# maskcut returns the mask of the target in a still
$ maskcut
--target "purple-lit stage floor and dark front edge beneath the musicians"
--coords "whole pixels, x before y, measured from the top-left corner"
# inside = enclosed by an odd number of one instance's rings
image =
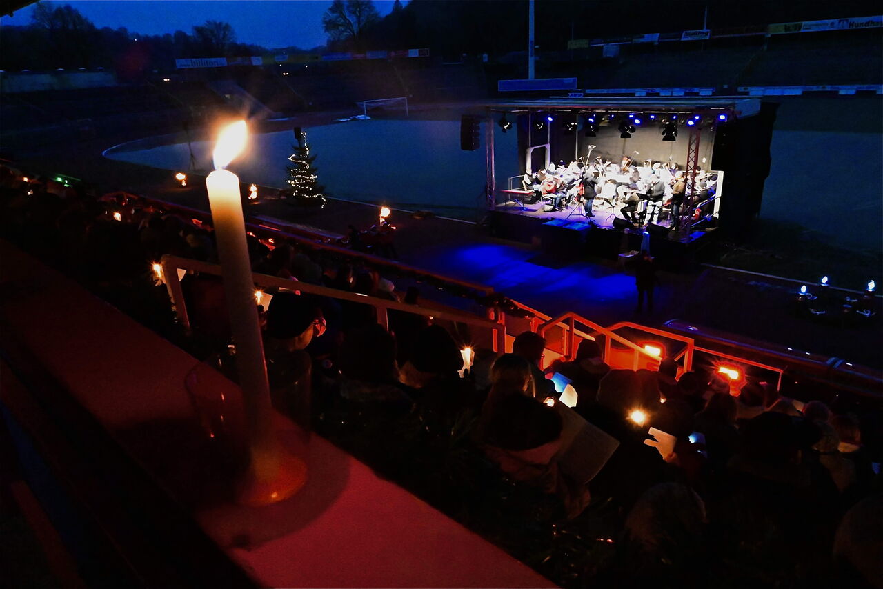
[[[673,270],[704,261],[717,241],[716,230],[672,231],[665,217],[649,227],[621,229],[614,219],[623,221],[622,205],[611,209],[607,203],[596,204],[588,218],[579,206],[550,212],[542,207],[542,203],[523,207],[514,201],[498,204],[490,212],[491,234],[539,246],[548,257],[562,262],[617,260],[621,253],[649,249],[662,267]]]

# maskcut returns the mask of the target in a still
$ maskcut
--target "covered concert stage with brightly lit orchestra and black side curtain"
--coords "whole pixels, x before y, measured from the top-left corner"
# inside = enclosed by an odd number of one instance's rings
[[[764,107],[736,96],[487,104],[492,235],[550,258],[622,260],[649,249],[669,268],[699,261],[700,252],[707,261],[719,234],[738,240],[758,214],[774,120]],[[466,123],[461,147],[474,149]],[[495,126],[517,132],[520,170],[497,167]],[[590,194],[586,216],[578,201]]]

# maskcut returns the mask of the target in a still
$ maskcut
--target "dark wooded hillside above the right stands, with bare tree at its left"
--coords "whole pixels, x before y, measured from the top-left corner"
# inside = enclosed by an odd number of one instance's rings
[[[435,55],[488,53],[500,56],[527,49],[527,0],[411,0],[399,2],[380,19],[369,19],[351,34],[336,13],[372,4],[370,0],[335,0],[326,12],[325,30],[336,50],[413,49]],[[567,49],[574,39],[666,33],[709,27],[766,25],[796,20],[861,17],[879,13],[868,0],[536,0],[535,32],[540,50]],[[328,21],[331,22],[331,28]]]

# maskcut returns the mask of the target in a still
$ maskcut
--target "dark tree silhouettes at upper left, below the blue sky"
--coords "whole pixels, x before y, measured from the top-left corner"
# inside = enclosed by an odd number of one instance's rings
[[[34,5],[32,24],[4,26],[0,69],[115,69],[125,75],[169,70],[176,58],[262,55],[267,49],[236,42],[229,23],[207,20],[191,33],[138,34],[125,27],[98,28],[70,5]]]

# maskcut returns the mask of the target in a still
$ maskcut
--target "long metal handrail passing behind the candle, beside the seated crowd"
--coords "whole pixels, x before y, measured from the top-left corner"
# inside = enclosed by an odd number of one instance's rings
[[[172,306],[174,306],[178,321],[189,331],[190,316],[187,313],[187,306],[184,298],[184,291],[181,289],[181,282],[177,277],[177,270],[187,270],[193,272],[201,272],[212,276],[222,276],[220,264],[210,264],[205,261],[189,260],[179,258],[177,256],[166,254],[162,256],[160,261],[162,267],[162,280],[166,284],[169,291]],[[369,295],[362,295],[355,292],[339,291],[337,289],[320,286],[318,284],[302,283],[291,281],[287,278],[278,276],[269,276],[266,274],[253,274],[253,281],[262,287],[281,288],[288,291],[307,292],[322,297],[336,298],[337,300],[350,301],[352,303],[361,303],[363,305],[373,306],[377,313],[377,322],[383,328],[389,328],[389,310],[403,311],[404,313],[413,313],[425,315],[434,319],[442,319],[445,321],[457,321],[474,325],[480,328],[490,329],[493,334],[494,351],[505,351],[506,343],[506,316],[502,311],[495,310],[496,320],[492,321],[484,319],[469,313],[460,313],[454,311],[427,309],[426,307],[409,305],[400,303],[395,300],[386,298],[377,298]]]

